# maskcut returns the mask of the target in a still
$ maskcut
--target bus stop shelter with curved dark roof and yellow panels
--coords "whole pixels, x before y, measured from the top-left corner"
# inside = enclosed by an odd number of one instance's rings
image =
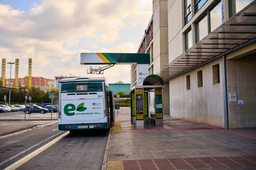
[[[131,90],[131,124],[144,129],[146,124],[163,127],[163,79],[152,74]]]

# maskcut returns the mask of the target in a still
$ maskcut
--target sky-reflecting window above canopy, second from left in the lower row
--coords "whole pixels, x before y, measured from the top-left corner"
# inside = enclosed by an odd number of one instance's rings
[[[196,43],[208,34],[207,15],[196,23]]]

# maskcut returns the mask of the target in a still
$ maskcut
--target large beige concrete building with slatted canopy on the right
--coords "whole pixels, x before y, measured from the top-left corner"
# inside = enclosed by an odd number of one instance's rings
[[[150,53],[148,73],[164,80],[163,113],[256,127],[256,1],[154,0],[148,25],[138,53]]]

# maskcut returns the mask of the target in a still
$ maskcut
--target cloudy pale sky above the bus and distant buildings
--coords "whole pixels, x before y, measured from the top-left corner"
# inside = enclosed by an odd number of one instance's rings
[[[32,76],[105,76],[109,83],[130,83],[130,65],[87,74],[80,53],[136,53],[151,17],[152,0],[0,0],[0,56],[20,59],[19,77],[28,76],[32,58]],[[14,71],[13,65],[12,78]]]

